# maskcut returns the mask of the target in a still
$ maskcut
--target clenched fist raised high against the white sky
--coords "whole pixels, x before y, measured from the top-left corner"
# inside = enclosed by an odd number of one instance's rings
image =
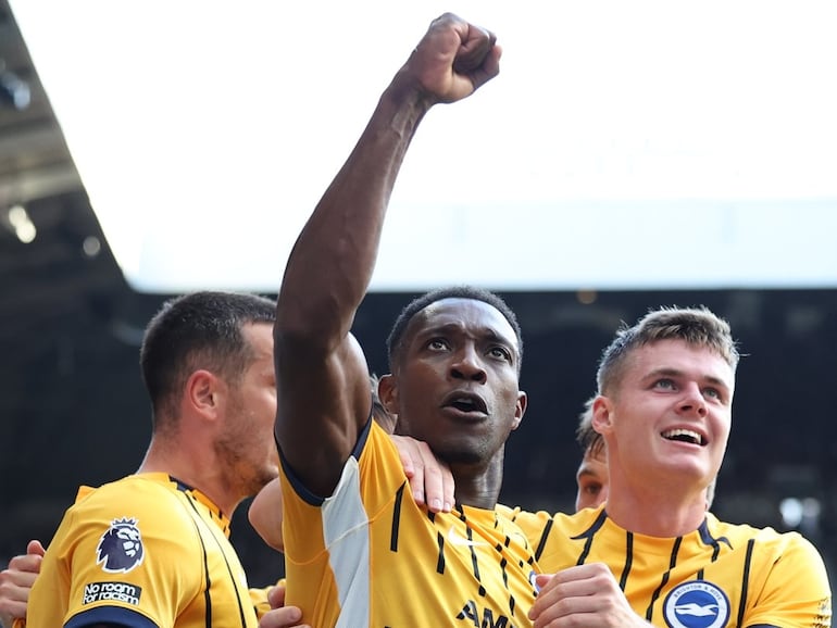
[[[402,74],[434,102],[461,100],[500,73],[496,41],[492,33],[446,13],[433,21]]]

